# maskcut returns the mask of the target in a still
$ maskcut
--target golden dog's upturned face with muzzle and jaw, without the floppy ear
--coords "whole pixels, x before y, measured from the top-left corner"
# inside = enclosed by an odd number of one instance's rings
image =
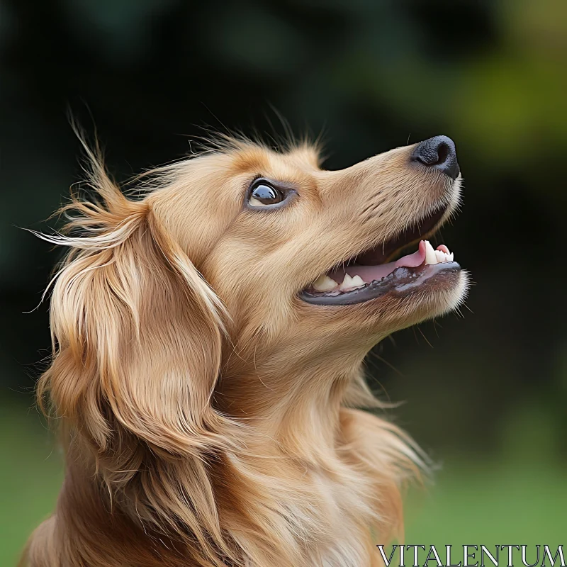
[[[257,371],[359,356],[464,298],[453,254],[425,240],[459,203],[448,137],[340,171],[321,169],[307,146],[242,143],[173,173],[150,206],[228,308],[238,358]]]

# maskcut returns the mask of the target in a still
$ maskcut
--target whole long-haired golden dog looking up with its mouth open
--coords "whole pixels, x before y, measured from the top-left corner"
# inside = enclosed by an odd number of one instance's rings
[[[308,144],[226,139],[135,197],[86,152],[94,198],[43,235],[69,247],[38,383],[66,471],[22,564],[380,565],[426,463],[367,411],[363,361],[464,301],[427,240],[459,206],[454,142],[325,171]]]

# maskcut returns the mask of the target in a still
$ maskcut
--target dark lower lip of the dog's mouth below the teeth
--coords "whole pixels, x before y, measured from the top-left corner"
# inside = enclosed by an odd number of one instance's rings
[[[425,281],[432,281],[436,276],[444,277],[459,271],[461,271],[461,266],[457,262],[443,262],[442,264],[425,264],[424,262],[417,268],[400,266],[381,281],[373,281],[364,288],[346,291],[337,296],[301,291],[299,297],[306,303],[314,305],[354,305],[381,298],[388,293],[405,295],[421,286]]]

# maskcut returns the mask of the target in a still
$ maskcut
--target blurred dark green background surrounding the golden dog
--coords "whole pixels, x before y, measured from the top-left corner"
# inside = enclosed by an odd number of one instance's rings
[[[329,169],[451,136],[465,201],[443,240],[468,308],[368,365],[439,464],[406,540],[567,544],[566,69],[564,0],[0,0],[0,565],[62,481],[32,394],[59,252],[17,227],[45,228],[79,179],[67,107],[118,179],[203,125],[281,133],[277,113],[323,133]]]

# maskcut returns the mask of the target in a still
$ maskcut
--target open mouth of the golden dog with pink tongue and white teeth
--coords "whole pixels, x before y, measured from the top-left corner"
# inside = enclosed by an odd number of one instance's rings
[[[454,254],[447,246],[434,249],[428,240],[420,240],[441,224],[446,210],[447,207],[438,210],[383,245],[322,274],[300,293],[300,298],[318,305],[352,305],[390,291],[408,291],[446,271],[459,271],[461,266],[454,262]],[[416,241],[419,241],[417,252],[386,262]]]

